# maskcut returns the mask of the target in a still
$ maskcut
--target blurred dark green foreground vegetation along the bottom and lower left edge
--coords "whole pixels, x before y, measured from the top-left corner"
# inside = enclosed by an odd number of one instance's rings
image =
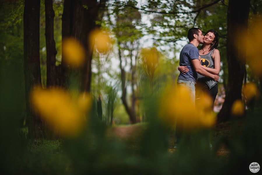
[[[23,101],[17,98],[16,81],[9,81],[19,77],[11,67],[1,67],[6,69],[10,74],[1,74],[5,93],[0,104],[4,174],[240,174],[249,172],[251,162],[261,160],[261,99],[245,111],[244,118],[233,118],[216,129],[190,131],[191,139],[185,135],[177,150],[172,149],[174,130],[158,117],[154,95],[144,105],[148,122],[122,126],[135,128],[124,137],[113,132],[117,127],[98,119],[93,105],[80,135],[28,140],[27,129],[21,129],[19,122]],[[221,146],[227,152],[224,155],[219,153]]]

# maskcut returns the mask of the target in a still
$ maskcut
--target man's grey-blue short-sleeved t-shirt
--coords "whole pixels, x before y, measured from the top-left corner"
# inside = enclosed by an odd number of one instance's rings
[[[196,83],[197,81],[197,73],[191,62],[191,60],[198,59],[198,48],[196,48],[193,44],[188,43],[180,52],[180,66],[186,66],[189,69],[186,74],[180,72],[178,79],[185,81],[193,81]]]

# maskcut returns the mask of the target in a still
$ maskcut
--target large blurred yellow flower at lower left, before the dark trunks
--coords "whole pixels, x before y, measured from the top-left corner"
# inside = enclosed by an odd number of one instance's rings
[[[85,121],[84,111],[91,106],[89,95],[80,97],[80,101],[84,102],[76,103],[67,91],[60,88],[36,87],[30,97],[33,109],[54,131],[64,136],[81,131]]]

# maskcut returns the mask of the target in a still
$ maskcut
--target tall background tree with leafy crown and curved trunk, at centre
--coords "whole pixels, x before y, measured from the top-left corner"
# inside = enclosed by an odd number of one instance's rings
[[[131,4],[129,1],[127,4]],[[141,25],[141,14],[137,9],[131,7],[124,7],[122,9],[115,8],[115,13],[117,15],[116,25],[114,26],[114,31],[118,40],[118,55],[120,60],[120,69],[121,69],[121,83],[122,83],[122,103],[126,109],[126,112],[129,115],[129,120],[131,123],[136,123],[136,95],[135,95],[135,74],[136,74],[136,60],[138,56],[139,49],[139,39],[142,37],[142,31],[136,29],[136,26]],[[123,56],[122,52],[124,50],[129,51],[128,56]],[[136,55],[134,53],[136,52]],[[124,59],[123,59],[124,57]],[[128,58],[129,57],[129,58]],[[134,59],[134,61],[133,61]],[[127,61],[125,64],[123,60],[130,60],[130,71],[125,70]],[[128,74],[130,73],[130,74]],[[126,76],[130,75],[130,76]],[[127,86],[131,87],[131,105],[128,103],[127,99]]]

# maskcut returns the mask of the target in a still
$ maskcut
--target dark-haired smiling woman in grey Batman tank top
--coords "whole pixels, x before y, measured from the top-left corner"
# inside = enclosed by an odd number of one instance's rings
[[[199,49],[199,56],[201,59],[202,67],[210,72],[211,74],[218,75],[220,71],[220,54],[217,50],[219,44],[219,35],[217,31],[210,29],[205,33],[204,42]],[[189,69],[186,66],[179,66],[178,70],[183,74],[186,74]],[[218,92],[218,83],[211,78],[207,78],[198,74],[198,81],[196,85],[196,99],[201,98],[201,93],[208,93],[213,100],[212,107],[214,106],[214,101]]]

